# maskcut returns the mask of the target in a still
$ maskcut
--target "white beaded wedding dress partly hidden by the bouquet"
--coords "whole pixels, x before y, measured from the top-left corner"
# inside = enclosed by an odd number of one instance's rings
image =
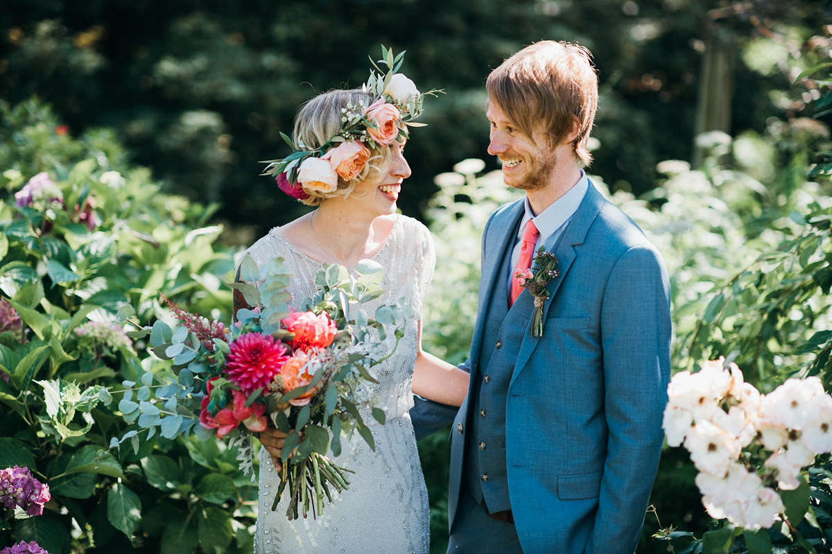
[[[314,275],[321,265],[276,235],[275,230],[248,252],[258,265],[275,256],[285,260],[286,269],[294,275],[289,285],[293,308],[300,309],[300,302],[314,294]],[[433,242],[424,225],[399,215],[373,260],[384,268],[382,286],[387,293],[364,304],[368,312],[373,313],[382,303],[404,298],[419,313],[435,262]],[[393,337],[388,337],[385,344],[389,352]],[[417,322],[411,320],[394,355],[371,369],[379,380],[375,385],[379,408],[387,415],[382,425],[369,414],[369,409],[362,413],[364,423],[373,433],[375,450],[358,433],[342,438],[343,451],[335,463],[355,473],[348,473],[349,489],[333,491],[332,502],[324,499],[323,514],[313,518],[310,512],[306,519],[301,516],[290,521],[286,517],[287,493],[272,512],[280,477],[270,456],[260,449],[255,554],[428,552],[428,492],[408,413],[413,405],[410,385],[416,349]]]

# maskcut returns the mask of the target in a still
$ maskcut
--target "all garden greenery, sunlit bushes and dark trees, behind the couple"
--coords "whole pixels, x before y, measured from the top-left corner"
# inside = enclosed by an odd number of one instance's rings
[[[436,239],[428,350],[453,362],[467,355],[479,236],[493,209],[516,197],[493,161],[457,165],[484,156],[483,79],[522,45],[553,37],[596,55],[592,179],[665,257],[674,369],[725,355],[761,392],[805,374],[829,390],[832,97],[828,67],[817,69],[830,61],[830,32],[820,27],[829,10],[705,0],[6,2],[0,295],[15,303],[28,342],[0,334],[0,369],[10,374],[0,382],[0,465],[31,467],[55,500],[41,517],[0,525],[3,544],[38,540],[52,554],[250,552],[256,490],[233,453],[183,436],[109,448],[131,429],[119,409],[123,381],[138,398],[166,364],[141,342],[91,351],[75,329],[111,322],[123,304],[146,324],[170,320],[159,291],[230,320],[224,283],[238,245],[303,210],[273,194],[257,161],[280,153],[278,131],[314,91],[362,82],[379,43],[408,50],[404,70],[420,87],[447,91],[428,99],[401,201]],[[695,142],[700,52],[712,32],[732,41],[733,117],[727,132]],[[14,193],[40,171],[62,189],[66,210],[14,207]],[[89,197],[93,231],[74,212]],[[35,382],[57,379],[69,387],[61,413],[75,410],[63,420],[74,437],[62,437]],[[71,384],[99,401],[71,405]],[[447,541],[446,439],[420,444],[433,552]],[[816,482],[828,476],[825,462]],[[695,473],[683,450],[663,453],[639,552],[666,552],[650,538],[662,526],[698,538],[714,526]],[[811,502],[830,528],[829,502]],[[820,550],[828,545],[801,525]],[[690,541],[679,536],[677,552]]]

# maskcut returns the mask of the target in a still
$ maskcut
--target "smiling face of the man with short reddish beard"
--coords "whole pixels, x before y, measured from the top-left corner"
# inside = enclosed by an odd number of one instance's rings
[[[503,181],[520,190],[544,188],[557,166],[557,152],[549,146],[542,131],[527,136],[508,119],[493,100],[488,101],[486,116],[491,125],[488,153],[503,162]]]

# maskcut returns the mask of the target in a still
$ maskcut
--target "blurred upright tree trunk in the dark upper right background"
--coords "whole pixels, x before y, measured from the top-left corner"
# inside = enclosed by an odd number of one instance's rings
[[[731,100],[734,95],[733,37],[718,23],[711,22],[706,32],[705,56],[702,59],[699,80],[699,101],[696,106],[694,167],[699,167],[702,161],[702,149],[696,145],[696,136],[706,131],[724,131],[730,134]]]

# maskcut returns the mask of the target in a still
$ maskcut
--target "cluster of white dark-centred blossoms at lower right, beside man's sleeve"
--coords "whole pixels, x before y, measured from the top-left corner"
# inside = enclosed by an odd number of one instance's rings
[[[748,552],[772,552],[775,526],[815,552],[796,527],[815,521],[806,468],[832,452],[832,396],[820,378],[790,378],[761,394],[721,357],[676,373],[667,393],[667,444],[691,454],[706,512],[728,522],[716,537],[706,533],[702,552],[729,552],[740,532]]]

